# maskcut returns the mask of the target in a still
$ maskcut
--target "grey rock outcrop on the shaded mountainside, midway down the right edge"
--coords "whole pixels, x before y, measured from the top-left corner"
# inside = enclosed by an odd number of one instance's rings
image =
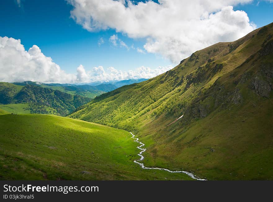
[[[255,76],[251,82],[250,82],[251,89],[254,90],[254,92],[257,95],[260,95],[262,97],[269,98],[269,94],[271,91],[271,87],[267,81],[264,81],[259,76]]]

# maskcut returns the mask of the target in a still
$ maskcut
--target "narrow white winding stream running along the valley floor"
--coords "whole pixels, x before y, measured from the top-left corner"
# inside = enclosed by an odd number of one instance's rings
[[[182,115],[182,116],[183,116],[183,115]],[[141,150],[141,152],[137,154],[138,156],[140,156],[140,159],[135,160],[134,162],[137,163],[138,165],[140,165],[141,168],[143,168],[143,169],[154,169],[154,170],[165,170],[165,171],[168,171],[168,172],[170,172],[170,173],[185,173],[185,174],[189,175],[189,176],[190,176],[191,178],[193,178],[193,179],[196,179],[196,180],[206,180],[206,179],[200,179],[200,178],[198,178],[197,176],[195,176],[194,174],[189,173],[189,172],[187,172],[187,171],[172,171],[172,170],[169,170],[169,169],[166,169],[166,168],[151,168],[151,167],[145,167],[143,163],[138,162],[138,161],[142,161],[142,160],[144,159],[144,156],[142,155],[142,153],[146,151],[146,148],[141,148],[141,147],[144,146],[145,144],[143,144],[142,142],[138,141],[139,139],[136,138],[135,135],[132,134],[132,132],[130,132],[130,133],[131,133],[131,135],[132,135],[132,138],[133,138],[133,139],[136,139],[136,140],[134,140],[134,142],[137,142],[137,143],[140,144],[140,146],[137,147],[137,148],[139,148],[139,149]]]

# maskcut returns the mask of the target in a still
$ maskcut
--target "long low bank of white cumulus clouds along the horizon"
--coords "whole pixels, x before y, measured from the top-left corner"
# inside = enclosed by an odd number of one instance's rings
[[[0,81],[38,81],[42,83],[90,83],[95,81],[127,80],[151,78],[172,69],[171,66],[139,67],[131,71],[118,71],[114,67],[104,70],[102,66],[87,71],[83,65],[76,74],[67,74],[59,65],[45,56],[37,45],[28,51],[20,39],[0,37]]]

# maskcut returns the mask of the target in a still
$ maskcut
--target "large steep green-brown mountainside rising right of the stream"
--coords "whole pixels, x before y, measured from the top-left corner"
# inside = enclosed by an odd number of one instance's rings
[[[217,180],[273,180],[273,23],[69,115],[133,131],[145,166]],[[183,115],[183,117],[181,117]]]

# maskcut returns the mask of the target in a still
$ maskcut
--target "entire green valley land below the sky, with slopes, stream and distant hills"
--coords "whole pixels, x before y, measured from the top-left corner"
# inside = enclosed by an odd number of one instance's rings
[[[273,23],[127,82],[1,82],[0,178],[273,180]]]

